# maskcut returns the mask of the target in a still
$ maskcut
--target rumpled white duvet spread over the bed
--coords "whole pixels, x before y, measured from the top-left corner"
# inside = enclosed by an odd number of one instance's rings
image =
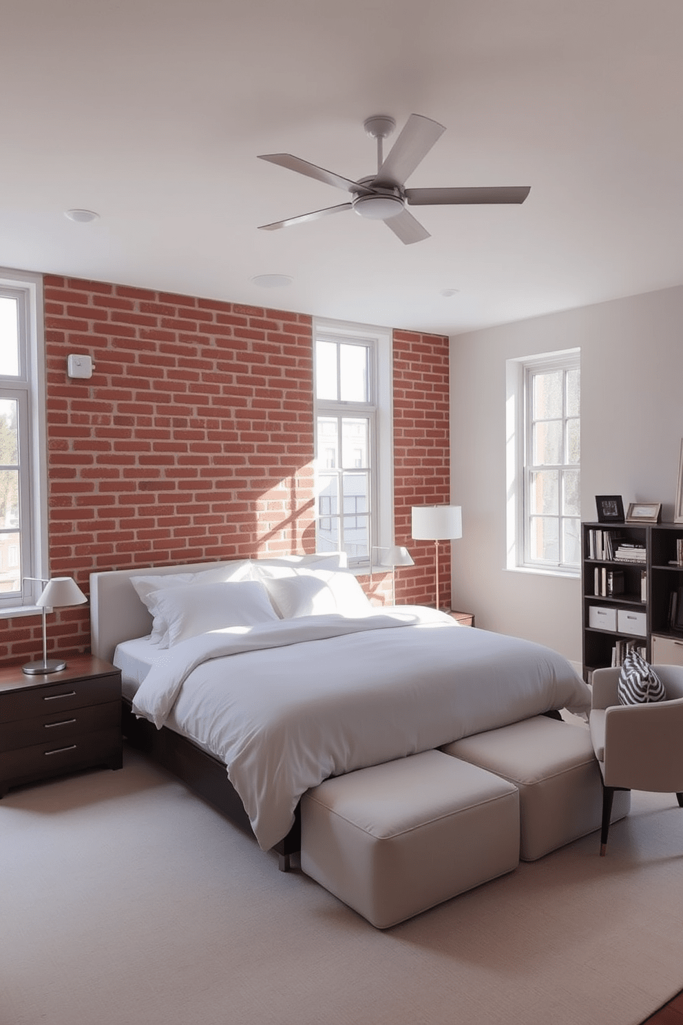
[[[215,630],[171,648],[133,701],[220,757],[259,845],[328,776],[439,747],[590,692],[556,652],[420,607]]]

